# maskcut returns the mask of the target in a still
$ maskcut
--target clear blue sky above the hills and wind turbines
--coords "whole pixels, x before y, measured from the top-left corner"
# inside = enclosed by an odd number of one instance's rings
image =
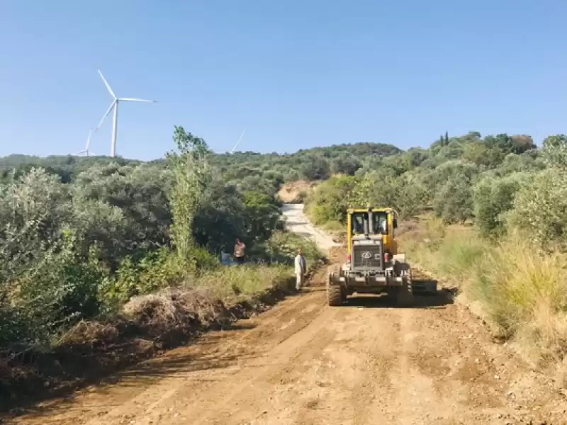
[[[0,155],[217,152],[567,132],[564,0],[0,0]],[[111,116],[91,139],[110,152]]]

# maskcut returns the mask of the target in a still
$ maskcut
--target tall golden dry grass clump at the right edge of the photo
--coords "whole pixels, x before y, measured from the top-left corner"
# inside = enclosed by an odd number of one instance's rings
[[[536,361],[567,353],[567,256],[511,235],[487,256],[475,283],[503,336]]]

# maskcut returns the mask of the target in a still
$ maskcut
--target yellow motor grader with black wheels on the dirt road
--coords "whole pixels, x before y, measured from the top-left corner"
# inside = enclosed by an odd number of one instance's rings
[[[347,261],[329,273],[328,305],[342,305],[354,293],[386,293],[395,304],[413,304],[415,285],[405,254],[398,253],[397,227],[393,208],[347,210]]]

